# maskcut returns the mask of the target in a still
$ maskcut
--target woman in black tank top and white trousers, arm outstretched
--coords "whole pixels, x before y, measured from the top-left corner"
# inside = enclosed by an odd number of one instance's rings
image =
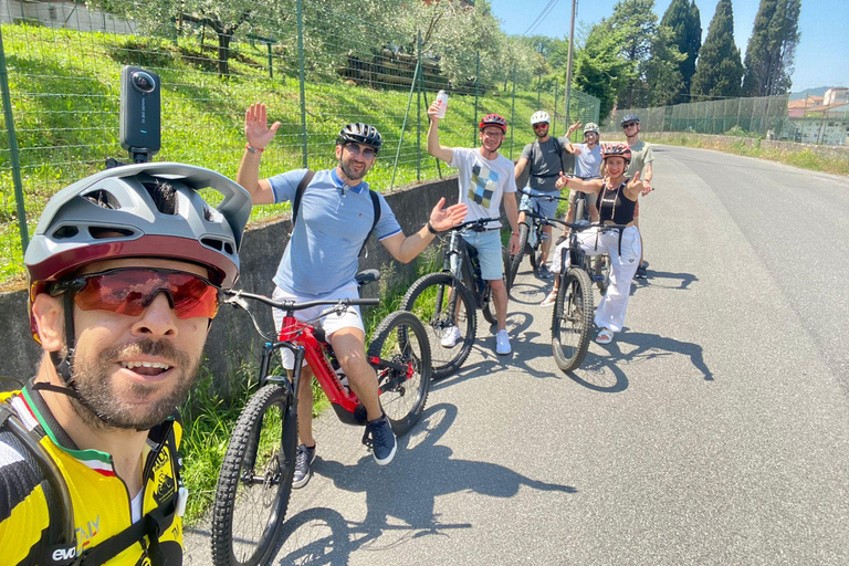
[[[625,144],[602,144],[601,179],[580,180],[560,174],[556,187],[568,187],[579,192],[598,195],[598,212],[601,223],[626,226],[623,230],[600,231],[590,229],[580,232],[578,239],[581,249],[588,255],[607,253],[610,256],[610,286],[596,310],[595,323],[601,328],[596,342],[609,344],[614,333],[620,332],[625,323],[625,312],[631,290],[631,280],[640,259],[639,230],[633,224],[633,210],[637,198],[646,190],[640,174],[633,179],[625,178],[625,170],[631,160],[631,150]],[[557,247],[554,254],[553,270],[559,272],[562,249],[568,247],[568,240]],[[559,277],[554,280],[554,291],[545,297],[542,306],[554,304],[557,297]]]

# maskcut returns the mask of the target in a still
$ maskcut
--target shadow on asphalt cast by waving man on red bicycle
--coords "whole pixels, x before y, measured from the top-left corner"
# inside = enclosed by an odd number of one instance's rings
[[[284,527],[275,564],[342,565],[360,548],[388,548],[421,536],[450,537],[452,530],[472,528],[471,523],[440,521],[434,501],[449,493],[512,497],[522,486],[576,493],[570,485],[533,480],[502,465],[451,458],[453,451],[436,442],[455,418],[453,405],[426,410],[413,431],[398,439],[398,455],[387,468],[376,467],[370,455],[353,465],[316,459],[315,473],[332,480],[336,489],[366,493],[367,515],[354,522],[326,507],[293,515]]]

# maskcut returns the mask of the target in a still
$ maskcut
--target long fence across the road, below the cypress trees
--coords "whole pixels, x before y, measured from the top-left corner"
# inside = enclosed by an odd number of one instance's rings
[[[761,136],[806,144],[846,145],[849,140],[847,105],[790,107],[789,96],[759,96],[695,102],[654,108],[614,112],[602,126],[618,132],[627,114],[640,117],[641,132],[692,132]]]

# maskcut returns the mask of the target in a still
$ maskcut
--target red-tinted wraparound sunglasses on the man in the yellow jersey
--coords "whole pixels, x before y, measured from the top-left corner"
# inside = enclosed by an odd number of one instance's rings
[[[118,268],[56,283],[51,295],[74,293],[83,311],[111,311],[138,316],[164,292],[177,318],[214,318],[220,290],[206,279],[154,268]]]

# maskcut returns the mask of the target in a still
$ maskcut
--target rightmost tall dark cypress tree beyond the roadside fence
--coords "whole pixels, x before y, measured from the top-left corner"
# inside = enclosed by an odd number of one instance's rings
[[[746,48],[745,94],[769,96],[789,91],[800,8],[800,0],[761,0]]]

